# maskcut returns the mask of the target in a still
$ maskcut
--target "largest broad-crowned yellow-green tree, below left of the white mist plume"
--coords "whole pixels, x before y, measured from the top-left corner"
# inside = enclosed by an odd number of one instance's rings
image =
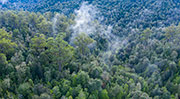
[[[53,44],[50,46],[49,51],[54,56],[53,61],[59,66],[60,72],[64,66],[70,63],[74,55],[74,48],[64,41],[63,38],[62,35],[58,35],[55,40],[49,40],[49,44]]]

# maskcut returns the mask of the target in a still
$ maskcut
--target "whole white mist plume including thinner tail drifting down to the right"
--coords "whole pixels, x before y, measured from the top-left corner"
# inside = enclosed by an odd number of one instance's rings
[[[108,41],[107,51],[101,53],[102,59],[106,63],[111,55],[115,55],[116,52],[128,42],[127,39],[124,40],[112,34],[113,26],[100,24],[103,23],[103,17],[99,15],[98,9],[93,5],[84,2],[79,10],[75,10],[75,15],[75,24],[71,26],[73,34],[70,43],[73,44],[75,38],[81,33],[85,33],[89,36],[98,33]],[[88,46],[95,46],[95,44]]]

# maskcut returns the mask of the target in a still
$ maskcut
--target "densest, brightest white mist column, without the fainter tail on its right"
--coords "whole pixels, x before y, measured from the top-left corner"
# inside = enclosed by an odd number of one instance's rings
[[[94,24],[97,17],[96,7],[88,5],[87,2],[84,2],[79,10],[75,10],[75,15],[75,24],[71,26],[71,29],[73,30],[71,43],[73,43],[75,37],[81,33],[91,35],[96,31],[96,26]]]

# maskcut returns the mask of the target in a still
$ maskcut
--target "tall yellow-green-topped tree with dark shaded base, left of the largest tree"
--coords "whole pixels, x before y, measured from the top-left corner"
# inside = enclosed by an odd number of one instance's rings
[[[30,50],[26,58],[26,61],[29,62],[28,65],[31,67],[31,74],[34,78],[44,77],[43,64],[46,64],[46,62],[43,63],[44,60],[42,60],[43,58],[41,55],[47,50],[46,46],[47,46],[47,41],[44,34],[37,33],[31,39]]]

